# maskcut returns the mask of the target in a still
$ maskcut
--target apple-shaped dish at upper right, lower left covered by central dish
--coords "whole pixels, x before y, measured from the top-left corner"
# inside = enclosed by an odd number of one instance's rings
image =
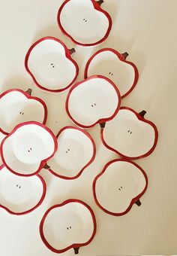
[[[128,53],[118,53],[112,48],[98,50],[86,64],[85,78],[104,75],[118,87],[121,98],[127,96],[138,81],[136,66],[126,60]]]

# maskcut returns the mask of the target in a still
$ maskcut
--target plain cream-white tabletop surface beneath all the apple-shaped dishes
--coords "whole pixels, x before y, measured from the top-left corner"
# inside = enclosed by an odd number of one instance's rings
[[[74,44],[58,29],[56,14],[62,0],[0,1],[0,90],[34,88],[33,95],[46,100],[47,124],[57,133],[71,123],[65,114],[65,96],[44,93],[34,86],[24,68],[28,47],[37,39],[53,35],[67,46]],[[41,174],[46,180],[46,199],[29,215],[12,216],[0,209],[0,255],[52,256],[40,240],[38,226],[43,213],[54,203],[68,198],[84,200],[92,206],[98,221],[93,242],[80,248],[80,255],[176,254],[177,253],[177,169],[176,154],[176,69],[177,1],[176,0],[105,0],[103,8],[113,18],[113,30],[98,47],[75,47],[73,55],[83,68],[86,60],[101,47],[127,51],[128,60],[139,69],[139,82],[130,96],[122,100],[136,111],[145,109],[146,118],[154,121],[159,141],[151,156],[136,160],[145,169],[149,186],[142,206],[133,206],[122,217],[107,215],[98,209],[92,197],[92,181],[108,160],[116,155],[101,145],[99,126],[90,130],[97,144],[95,162],[76,181]],[[57,121],[57,123],[55,123]],[[74,255],[67,251],[63,255]]]

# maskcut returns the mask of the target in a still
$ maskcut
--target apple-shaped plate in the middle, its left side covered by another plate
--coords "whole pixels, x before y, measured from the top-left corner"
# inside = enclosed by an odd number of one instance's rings
[[[95,159],[96,146],[89,133],[65,126],[56,136],[58,150],[48,162],[49,171],[59,178],[78,178]]]

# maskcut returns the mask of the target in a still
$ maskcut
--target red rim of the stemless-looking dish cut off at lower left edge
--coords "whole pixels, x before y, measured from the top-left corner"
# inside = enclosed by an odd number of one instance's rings
[[[5,167],[5,165],[0,166],[0,171],[1,171],[1,169],[3,169],[4,167]],[[0,172],[0,174],[1,174],[1,172]],[[12,211],[10,211],[10,209],[8,209],[8,208],[5,207],[5,206],[2,206],[1,204],[0,204],[0,208],[5,209],[5,210],[6,210],[7,212],[9,212],[11,215],[26,215],[26,214],[28,214],[28,213],[34,211],[35,209],[37,209],[37,207],[39,207],[39,206],[41,205],[41,203],[43,203],[43,200],[44,200],[44,198],[45,198],[45,196],[46,196],[46,182],[44,181],[44,179],[43,179],[40,175],[37,174],[37,177],[40,178],[40,181],[41,181],[41,183],[42,183],[42,185],[43,185],[43,194],[42,194],[42,196],[40,197],[40,200],[39,200],[39,202],[37,203],[36,206],[32,207],[31,209],[27,210],[26,212],[12,212]]]

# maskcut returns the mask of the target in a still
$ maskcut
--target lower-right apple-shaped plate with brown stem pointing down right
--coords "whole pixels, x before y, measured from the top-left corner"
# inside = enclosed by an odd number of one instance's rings
[[[140,166],[130,160],[115,159],[96,176],[93,194],[104,212],[121,216],[129,212],[134,203],[141,205],[139,198],[147,186],[147,175]]]

